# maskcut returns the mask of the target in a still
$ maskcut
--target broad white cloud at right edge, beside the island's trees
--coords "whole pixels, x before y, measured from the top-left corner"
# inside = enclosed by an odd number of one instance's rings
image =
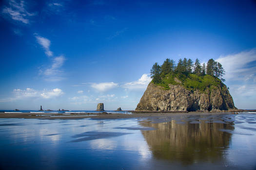
[[[256,49],[220,56],[216,61],[221,63],[225,69],[227,81],[256,80]],[[252,62],[255,63],[252,64]]]

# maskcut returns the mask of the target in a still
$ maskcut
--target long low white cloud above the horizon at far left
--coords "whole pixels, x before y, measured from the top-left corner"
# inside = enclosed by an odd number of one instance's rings
[[[22,89],[14,89],[12,92],[12,97],[0,99],[0,102],[12,102],[17,100],[23,100],[26,98],[43,98],[43,99],[51,99],[54,97],[59,97],[63,95],[63,91],[59,88],[55,89],[43,89],[43,90],[35,90],[33,88]]]

